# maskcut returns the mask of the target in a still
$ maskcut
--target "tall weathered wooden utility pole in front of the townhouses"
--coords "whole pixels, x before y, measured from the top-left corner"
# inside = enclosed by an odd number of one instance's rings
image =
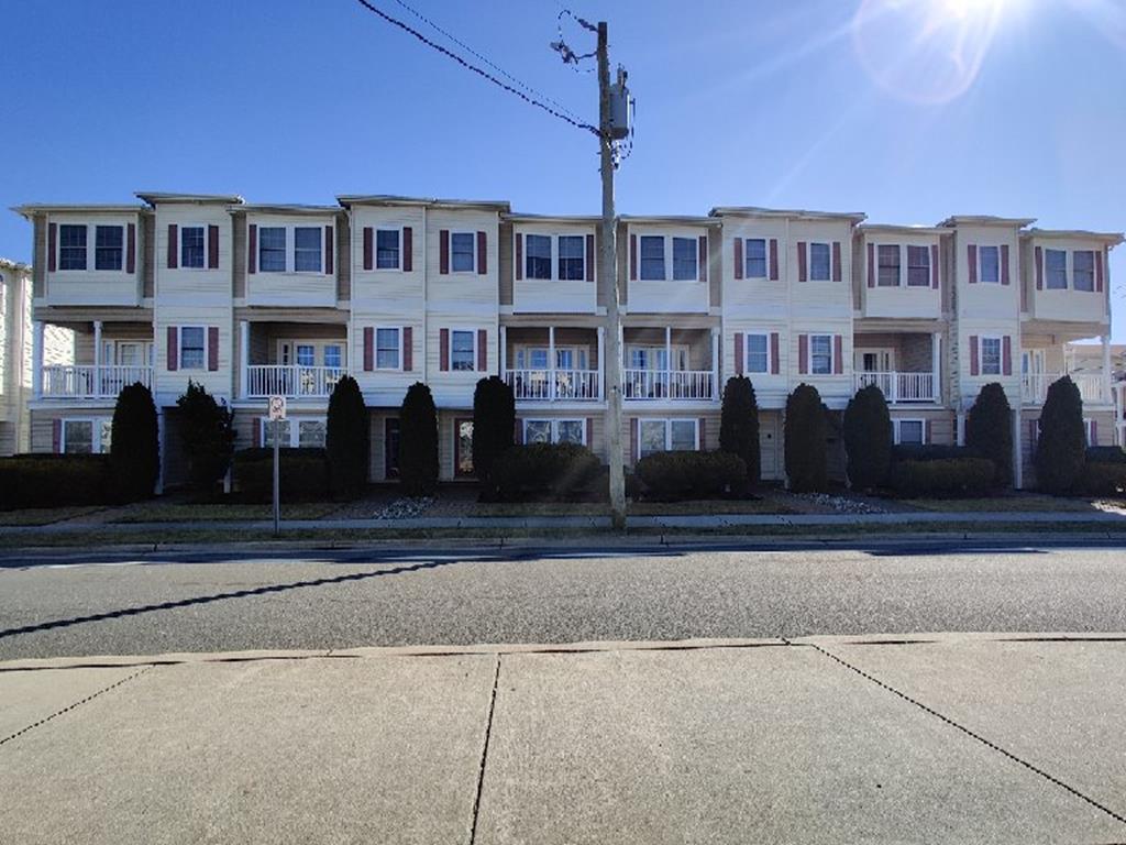
[[[614,527],[626,527],[625,454],[622,451],[622,318],[618,314],[617,222],[614,214],[615,140],[610,116],[610,56],[606,21],[598,24],[598,143],[602,175],[602,243],[598,275],[607,285],[606,319],[606,446],[610,464],[610,518]]]

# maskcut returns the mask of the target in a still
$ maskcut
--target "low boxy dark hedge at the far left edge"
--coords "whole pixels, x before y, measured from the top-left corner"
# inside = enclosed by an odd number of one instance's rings
[[[16,455],[0,460],[0,509],[108,505],[108,455]]]

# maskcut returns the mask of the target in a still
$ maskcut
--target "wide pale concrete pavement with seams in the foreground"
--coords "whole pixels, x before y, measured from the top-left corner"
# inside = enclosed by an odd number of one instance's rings
[[[1126,635],[0,664],[20,843],[1126,842]]]

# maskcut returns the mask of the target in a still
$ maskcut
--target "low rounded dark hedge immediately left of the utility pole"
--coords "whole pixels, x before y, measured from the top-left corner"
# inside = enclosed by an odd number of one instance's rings
[[[492,480],[501,501],[573,499],[589,495],[601,466],[593,452],[577,443],[533,443],[498,455]]]

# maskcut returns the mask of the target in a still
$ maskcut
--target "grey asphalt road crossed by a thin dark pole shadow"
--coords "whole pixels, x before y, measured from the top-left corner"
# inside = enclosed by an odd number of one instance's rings
[[[0,559],[0,659],[939,631],[1126,631],[1126,551]]]

